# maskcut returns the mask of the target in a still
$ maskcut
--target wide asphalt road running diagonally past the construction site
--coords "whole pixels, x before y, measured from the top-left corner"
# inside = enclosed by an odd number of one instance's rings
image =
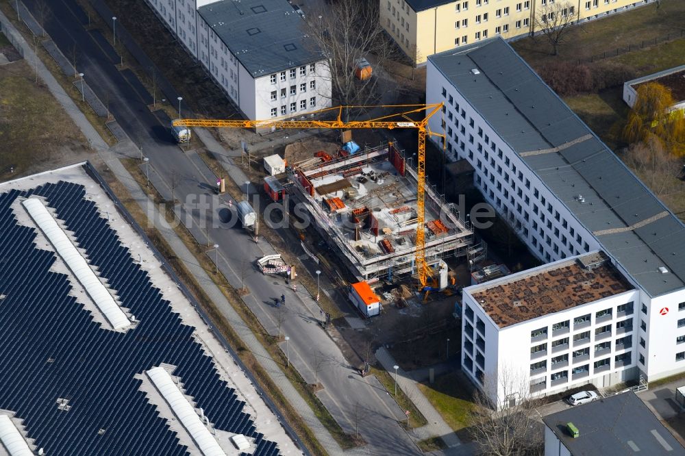
[[[36,1],[26,0],[27,7],[36,12]],[[316,371],[324,389],[319,392],[321,401],[348,432],[358,428],[369,443],[364,453],[377,455],[414,455],[419,453],[405,431],[397,425],[403,413],[379,386],[374,377],[362,379],[356,370],[347,366],[338,346],[319,327],[319,307],[304,295],[295,293],[282,279],[264,276],[252,265],[255,259],[270,247],[260,240],[253,242],[240,224],[230,227],[236,214],[233,209],[214,199],[214,175],[199,157],[186,155],[171,140],[169,127],[160,123],[149,112],[149,95],[140,92],[136,81],[125,77],[112,62],[112,50],[102,40],[96,40],[84,29],[84,15],[73,0],[53,0],[45,28],[65,55],[76,45],[79,53],[77,69],[92,90],[105,103],[126,134],[149,157],[153,174],[158,176],[162,193],[169,192],[172,175],[175,175],[175,197],[190,218],[190,228],[208,233],[209,244],[218,243],[219,264],[230,282],[242,282],[251,294],[245,301],[262,320],[267,330],[274,332],[279,320],[279,309],[272,305],[273,298],[286,295],[286,318],[282,332],[290,336],[290,361],[310,383]],[[107,33],[107,32],[105,32]],[[164,188],[166,186],[166,188]],[[205,204],[205,202],[207,202]],[[210,253],[210,257],[214,257]],[[269,328],[269,325],[272,325]],[[319,368],[316,368],[319,364]]]

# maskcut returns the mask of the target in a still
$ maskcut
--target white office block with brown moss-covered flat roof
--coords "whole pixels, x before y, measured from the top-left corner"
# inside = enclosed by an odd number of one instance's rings
[[[522,385],[527,396],[632,379],[637,302],[601,251],[465,288],[462,371],[493,399],[496,386],[502,404]],[[486,372],[498,372],[497,385]]]

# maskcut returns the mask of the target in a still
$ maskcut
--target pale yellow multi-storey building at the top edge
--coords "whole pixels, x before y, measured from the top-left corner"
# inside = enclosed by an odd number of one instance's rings
[[[418,64],[429,55],[501,36],[536,33],[534,18],[554,0],[379,0],[380,22]],[[656,0],[556,0],[575,21],[591,21]],[[536,12],[537,11],[537,12]]]

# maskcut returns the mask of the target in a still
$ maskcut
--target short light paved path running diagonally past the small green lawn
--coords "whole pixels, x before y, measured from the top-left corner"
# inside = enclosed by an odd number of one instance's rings
[[[390,355],[390,352],[388,352],[385,347],[381,347],[376,351],[376,359],[378,359],[385,370],[393,372],[395,358],[393,358],[393,355]],[[414,379],[412,379],[403,369],[397,370],[397,386],[399,386],[404,394],[412,398],[412,402],[416,405],[416,408],[421,411],[421,414],[428,421],[428,425],[421,428],[422,433],[428,431],[429,435],[440,437],[448,448],[453,448],[462,444],[456,433],[452,431],[451,427],[447,425],[435,407],[433,407],[426,396],[419,390],[419,387],[416,386]]]

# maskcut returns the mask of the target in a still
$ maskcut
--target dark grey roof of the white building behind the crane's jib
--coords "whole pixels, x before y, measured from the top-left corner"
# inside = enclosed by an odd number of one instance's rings
[[[321,60],[286,0],[222,0],[197,12],[253,77]]]

